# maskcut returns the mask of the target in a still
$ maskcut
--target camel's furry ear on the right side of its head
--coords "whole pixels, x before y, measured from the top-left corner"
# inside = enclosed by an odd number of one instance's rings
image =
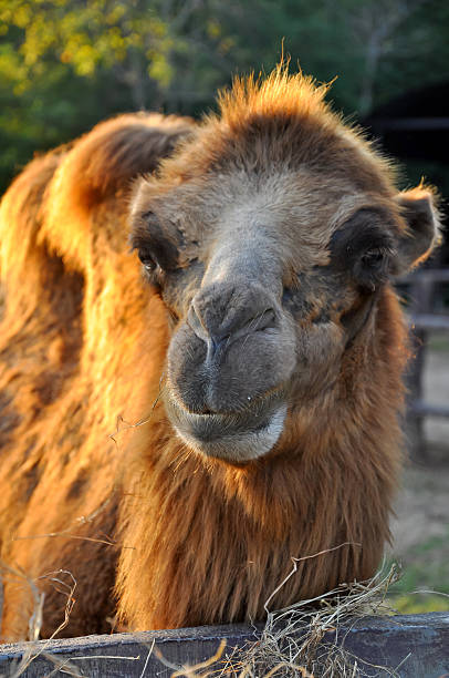
[[[440,243],[440,224],[430,191],[413,188],[399,193],[397,202],[407,223],[407,229],[399,236],[395,267],[395,273],[401,275],[427,259]]]

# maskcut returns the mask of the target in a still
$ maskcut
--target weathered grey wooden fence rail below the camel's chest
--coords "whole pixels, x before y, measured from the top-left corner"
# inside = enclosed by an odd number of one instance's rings
[[[400,678],[449,677],[449,613],[366,617],[340,629],[338,637],[344,648],[377,667],[396,669],[404,662],[397,672]],[[4,645],[0,675],[14,676],[18,662],[32,650],[34,658],[21,674],[24,678],[43,678],[52,671],[54,676],[66,676],[71,667],[90,678],[165,678],[173,671],[159,662],[154,651],[148,658],[153,646],[174,665],[194,665],[212,657],[222,638],[227,640],[227,655],[234,647],[255,641],[258,630],[244,625],[208,626]],[[366,665],[364,670],[369,672]],[[372,675],[389,674],[373,668]]]

